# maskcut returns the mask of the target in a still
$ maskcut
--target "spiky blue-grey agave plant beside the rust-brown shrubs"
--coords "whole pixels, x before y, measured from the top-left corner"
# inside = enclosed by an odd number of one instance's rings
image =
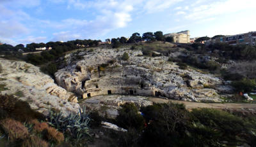
[[[86,108],[82,110],[79,108],[79,112],[76,114],[70,113],[67,117],[62,116],[62,113],[56,113],[49,111],[47,116],[49,125],[56,127],[61,132],[69,132],[74,139],[81,139],[86,136],[90,136],[88,123],[90,118],[86,113]]]

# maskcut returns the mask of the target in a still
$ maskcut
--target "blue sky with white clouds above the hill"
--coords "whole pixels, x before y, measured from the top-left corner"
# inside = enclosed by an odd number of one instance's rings
[[[178,32],[256,31],[255,0],[0,0],[0,41],[47,43]]]

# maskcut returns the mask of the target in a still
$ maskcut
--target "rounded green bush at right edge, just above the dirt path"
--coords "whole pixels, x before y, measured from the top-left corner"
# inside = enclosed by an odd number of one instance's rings
[[[243,78],[239,81],[233,81],[232,86],[236,88],[237,92],[251,92],[256,88],[256,81],[255,79]]]

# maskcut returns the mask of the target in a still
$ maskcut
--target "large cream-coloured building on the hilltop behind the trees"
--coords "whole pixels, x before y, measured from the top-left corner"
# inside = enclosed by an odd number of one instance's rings
[[[190,43],[190,34],[188,30],[164,35],[164,37],[169,36],[173,37],[173,42],[175,43]]]

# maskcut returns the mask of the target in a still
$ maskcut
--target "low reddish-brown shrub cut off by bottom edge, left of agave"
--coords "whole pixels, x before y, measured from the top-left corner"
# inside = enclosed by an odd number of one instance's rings
[[[48,147],[49,144],[46,141],[40,139],[40,137],[32,136],[26,139],[22,143],[22,147]]]

